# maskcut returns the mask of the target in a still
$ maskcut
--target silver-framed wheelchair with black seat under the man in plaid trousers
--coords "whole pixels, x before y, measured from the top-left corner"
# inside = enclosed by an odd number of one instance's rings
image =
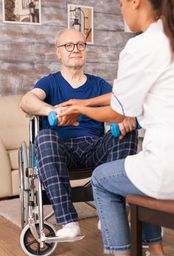
[[[55,227],[48,221],[53,216],[51,211],[44,216],[43,205],[50,202],[42,188],[35,159],[34,139],[39,131],[39,117],[31,116],[29,120],[29,149],[26,142],[22,141],[18,151],[19,158],[19,190],[20,190],[20,211],[21,227],[20,245],[26,255],[51,255],[58,243],[79,241],[84,236],[76,238],[56,237]],[[70,180],[89,178],[93,170],[69,170]],[[72,187],[72,202],[85,202],[95,208],[92,202],[93,194],[91,183],[83,187]]]

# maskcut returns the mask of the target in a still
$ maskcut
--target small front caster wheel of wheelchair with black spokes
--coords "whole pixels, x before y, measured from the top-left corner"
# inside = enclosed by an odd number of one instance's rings
[[[39,223],[37,222],[36,228],[39,233]],[[44,222],[44,232],[46,237],[56,236],[56,230],[50,222]],[[23,252],[26,255],[34,256],[34,255],[42,255],[48,256],[51,255],[56,249],[57,243],[47,243],[45,242],[44,247],[40,248],[39,243],[31,234],[29,224],[24,227],[21,235],[20,235],[20,245],[23,249]]]

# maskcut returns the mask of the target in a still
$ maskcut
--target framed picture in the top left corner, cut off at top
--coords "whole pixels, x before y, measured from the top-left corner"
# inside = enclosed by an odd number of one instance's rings
[[[41,0],[2,0],[3,22],[41,24]]]

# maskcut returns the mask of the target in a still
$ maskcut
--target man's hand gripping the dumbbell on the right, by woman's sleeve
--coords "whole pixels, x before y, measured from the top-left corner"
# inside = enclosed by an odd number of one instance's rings
[[[118,124],[121,135],[120,139],[124,138],[127,132],[131,132],[133,129],[136,129],[136,118],[135,117],[125,117],[122,123]]]

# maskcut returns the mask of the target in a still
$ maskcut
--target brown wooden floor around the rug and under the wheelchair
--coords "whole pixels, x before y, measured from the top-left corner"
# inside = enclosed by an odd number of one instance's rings
[[[80,221],[82,241],[58,244],[52,256],[102,256],[102,238],[97,217]],[[164,229],[165,256],[174,255],[174,230]],[[20,247],[20,228],[0,217],[0,256],[25,256]]]

